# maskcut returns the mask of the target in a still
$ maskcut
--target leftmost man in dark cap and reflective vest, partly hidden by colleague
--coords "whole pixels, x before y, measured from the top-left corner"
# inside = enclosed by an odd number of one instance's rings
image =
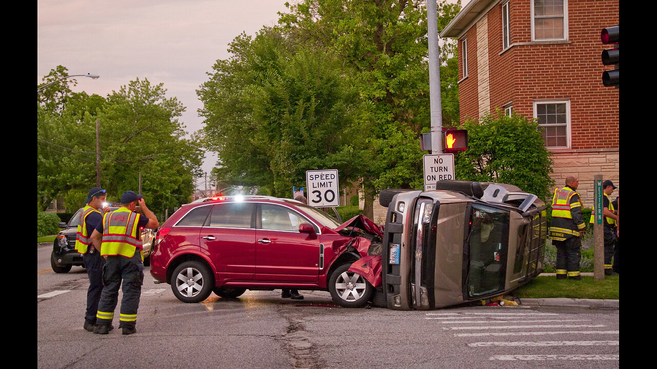
[[[89,276],[87,311],[84,319],[84,329],[89,332],[93,332],[93,328],[96,326],[96,312],[102,293],[102,266],[105,263],[105,259],[91,244],[91,233],[102,221],[100,209],[106,197],[105,190],[100,187],[91,188],[87,192],[87,200],[85,200],[87,205],[79,215],[78,233],[76,234],[76,250],[82,254],[82,261],[84,261],[87,276]],[[104,207],[102,211],[108,212],[110,208]],[[112,328],[110,326],[110,329]]]

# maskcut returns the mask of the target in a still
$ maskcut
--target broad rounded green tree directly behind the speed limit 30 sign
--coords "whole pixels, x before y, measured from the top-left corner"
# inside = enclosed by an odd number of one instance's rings
[[[222,183],[290,196],[306,170],[330,167],[354,178],[346,160],[357,91],[331,53],[294,45],[275,29],[235,37],[229,60],[197,91],[204,102],[206,148],[218,153]]]

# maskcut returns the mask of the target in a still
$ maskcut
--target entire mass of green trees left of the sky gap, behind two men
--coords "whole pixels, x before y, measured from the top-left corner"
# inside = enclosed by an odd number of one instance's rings
[[[45,83],[67,76],[58,66]],[[177,118],[185,107],[166,97],[162,83],[130,81],[106,98],[72,93],[63,79],[37,97],[37,202],[45,210],[64,196],[68,211],[82,207],[96,186],[96,121],[99,121],[101,187],[108,202],[139,190],[156,214],[189,202],[204,150],[198,134],[186,137]],[[161,216],[161,215],[160,215]]]

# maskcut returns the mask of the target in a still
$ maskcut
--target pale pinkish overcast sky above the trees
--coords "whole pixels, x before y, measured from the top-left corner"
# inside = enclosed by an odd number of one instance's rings
[[[139,77],[164,83],[187,111],[188,132],[202,127],[196,89],[241,32],[273,26],[286,0],[39,0],[37,84],[58,65],[76,77],[74,91],[106,97]],[[293,1],[290,1],[293,3]],[[216,158],[206,154],[210,173]]]

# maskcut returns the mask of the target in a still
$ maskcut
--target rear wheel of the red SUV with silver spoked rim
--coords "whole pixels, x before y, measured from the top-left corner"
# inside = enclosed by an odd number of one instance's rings
[[[214,276],[205,263],[185,261],[171,274],[173,295],[183,303],[198,303],[207,299],[214,288]]]

